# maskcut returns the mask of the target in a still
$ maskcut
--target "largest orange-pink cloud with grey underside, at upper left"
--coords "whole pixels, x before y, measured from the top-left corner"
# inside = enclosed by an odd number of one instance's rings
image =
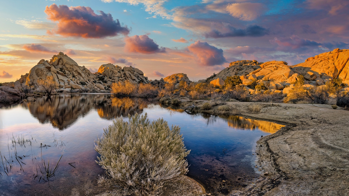
[[[45,13],[49,20],[57,23],[57,28],[48,33],[57,33],[65,37],[101,38],[116,36],[119,33],[128,35],[127,26],[122,27],[119,20],[113,19],[111,14],[98,11],[95,14],[90,7],[66,5],[46,6]]]

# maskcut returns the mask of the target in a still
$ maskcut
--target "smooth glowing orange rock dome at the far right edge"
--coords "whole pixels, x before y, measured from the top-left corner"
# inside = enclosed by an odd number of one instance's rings
[[[322,85],[333,78],[342,78],[349,84],[349,50],[334,49],[292,66],[295,73],[301,74],[309,84]]]

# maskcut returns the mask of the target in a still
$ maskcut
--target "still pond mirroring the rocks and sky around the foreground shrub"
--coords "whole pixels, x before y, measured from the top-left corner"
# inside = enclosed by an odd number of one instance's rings
[[[215,195],[240,189],[258,176],[252,155],[255,142],[282,127],[239,116],[190,115],[149,100],[109,94],[39,98],[0,109],[0,195],[103,192],[96,182],[104,171],[95,163],[94,140],[115,117],[135,112],[181,127],[191,150],[188,176]]]

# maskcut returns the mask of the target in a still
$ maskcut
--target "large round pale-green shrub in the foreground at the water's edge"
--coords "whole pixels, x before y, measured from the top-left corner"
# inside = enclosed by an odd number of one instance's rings
[[[101,155],[96,161],[106,171],[107,178],[98,182],[124,188],[129,195],[159,195],[169,181],[180,180],[188,172],[184,159],[190,152],[183,143],[180,128],[163,119],[149,122],[147,114],[122,117],[104,129],[95,141]]]

